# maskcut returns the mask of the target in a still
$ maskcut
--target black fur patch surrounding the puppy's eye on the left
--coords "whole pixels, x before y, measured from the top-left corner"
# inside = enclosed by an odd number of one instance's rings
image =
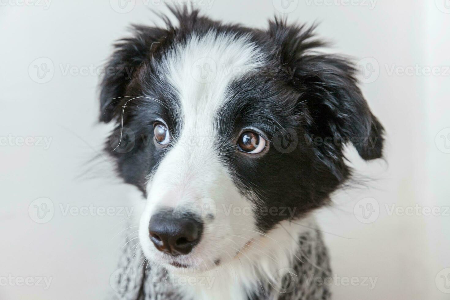
[[[153,123],[157,119],[163,120],[171,140],[175,140],[180,135],[183,116],[180,101],[168,84],[148,87],[139,83],[138,87],[131,86],[126,94],[130,96],[120,100],[123,119],[117,123],[105,151],[116,158],[117,172],[124,181],[135,185],[145,195],[149,175],[171,148],[170,142],[164,148],[155,145]],[[131,95],[145,96],[136,98]]]

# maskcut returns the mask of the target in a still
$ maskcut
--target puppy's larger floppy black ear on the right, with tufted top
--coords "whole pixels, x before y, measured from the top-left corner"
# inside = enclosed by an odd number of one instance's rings
[[[288,26],[276,19],[269,28],[279,46],[281,65],[292,70],[287,80],[301,94],[299,106],[308,116],[307,132],[339,141],[322,145],[322,153],[329,157],[338,157],[347,142],[365,160],[382,157],[383,126],[357,86],[354,65],[338,55],[314,52],[326,45],[314,39],[314,28]]]

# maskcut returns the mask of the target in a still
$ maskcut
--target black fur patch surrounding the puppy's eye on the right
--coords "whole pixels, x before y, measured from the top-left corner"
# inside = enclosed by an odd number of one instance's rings
[[[294,130],[297,137],[306,134],[304,116],[297,109],[301,94],[285,89],[275,79],[249,75],[229,86],[229,101],[216,118],[223,140],[234,140],[246,127],[263,131],[269,139],[270,149],[263,156],[244,154],[231,142],[219,150],[241,192],[261,200],[254,215],[263,231],[322,206],[340,184],[305,139],[297,138],[296,147],[290,151],[277,149],[275,139],[292,132],[287,130]]]

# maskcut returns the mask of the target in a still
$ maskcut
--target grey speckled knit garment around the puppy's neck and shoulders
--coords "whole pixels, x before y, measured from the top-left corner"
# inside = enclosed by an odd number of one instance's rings
[[[127,241],[119,268],[111,277],[117,300],[196,300],[170,283],[168,272],[152,268],[143,258],[137,239]],[[328,300],[330,287],[324,279],[331,274],[326,247],[319,231],[311,229],[298,237],[299,249],[290,266],[290,272],[275,289],[261,281],[260,288],[247,291],[247,300]],[[291,274],[294,273],[292,276]]]

